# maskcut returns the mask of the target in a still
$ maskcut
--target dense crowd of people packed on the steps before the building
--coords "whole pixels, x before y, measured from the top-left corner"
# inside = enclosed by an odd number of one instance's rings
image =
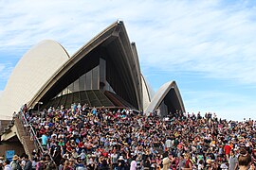
[[[252,170],[256,163],[255,120],[179,111],[146,116],[80,104],[23,112],[44,148],[32,153],[31,169]]]

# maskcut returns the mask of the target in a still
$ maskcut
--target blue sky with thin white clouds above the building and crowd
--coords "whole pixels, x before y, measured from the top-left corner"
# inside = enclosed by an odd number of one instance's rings
[[[188,112],[256,119],[254,1],[0,1],[0,94],[31,46],[60,42],[69,55],[118,19],[137,43],[156,91],[175,80]]]

